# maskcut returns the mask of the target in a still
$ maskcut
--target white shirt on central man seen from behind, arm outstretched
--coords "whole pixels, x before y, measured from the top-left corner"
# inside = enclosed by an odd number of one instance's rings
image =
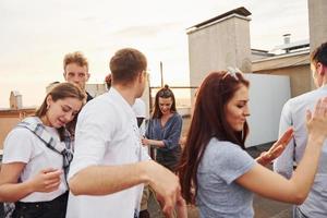
[[[113,88],[83,107],[76,125],[75,153],[69,178],[88,166],[114,166],[148,159],[142,152],[132,107]],[[93,178],[89,178],[93,180]],[[104,196],[70,193],[68,218],[132,218],[143,185]]]

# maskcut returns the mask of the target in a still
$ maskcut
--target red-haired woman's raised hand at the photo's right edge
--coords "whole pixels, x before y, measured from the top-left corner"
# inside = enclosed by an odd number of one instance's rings
[[[327,136],[327,97],[320,98],[314,111],[306,111],[306,128],[308,135],[324,141]],[[320,144],[319,144],[320,145]]]

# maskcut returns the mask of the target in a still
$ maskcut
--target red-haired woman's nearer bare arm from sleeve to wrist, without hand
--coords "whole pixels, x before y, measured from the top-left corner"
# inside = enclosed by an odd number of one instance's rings
[[[312,140],[312,138],[310,138]],[[308,144],[322,143],[312,140]],[[307,145],[310,147],[310,145]],[[284,179],[267,168],[256,165],[237,182],[252,192],[271,199],[302,204],[306,198],[317,170],[319,149],[311,146],[290,180]]]

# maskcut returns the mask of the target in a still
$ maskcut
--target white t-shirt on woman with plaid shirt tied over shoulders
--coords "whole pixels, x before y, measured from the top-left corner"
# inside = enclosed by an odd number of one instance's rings
[[[64,147],[56,129],[46,126],[46,131]],[[2,164],[25,162],[20,180],[25,182],[46,168],[62,169],[62,156],[46,146],[33,132],[25,128],[15,128],[7,136],[3,147]],[[34,192],[20,202],[48,202],[68,190],[64,174],[61,175],[59,189],[50,192]]]

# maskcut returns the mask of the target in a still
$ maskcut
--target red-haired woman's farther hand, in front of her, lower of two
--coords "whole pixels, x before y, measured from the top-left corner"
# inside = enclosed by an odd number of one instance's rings
[[[258,164],[265,166],[270,164],[272,160],[278,158],[287,145],[289,144],[290,140],[293,137],[293,128],[289,128],[281,137],[274,143],[268,152],[263,152],[259,157],[256,159]]]

